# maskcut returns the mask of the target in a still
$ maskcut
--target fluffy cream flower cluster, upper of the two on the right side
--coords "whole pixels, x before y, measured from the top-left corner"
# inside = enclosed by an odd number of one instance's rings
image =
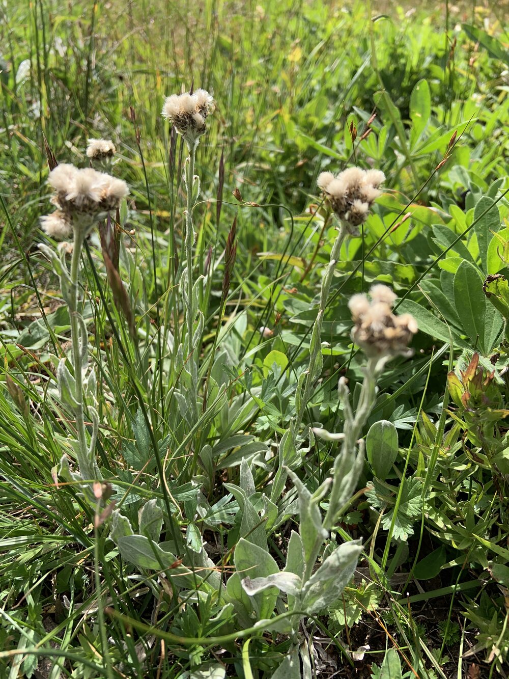
[[[341,221],[358,227],[366,221],[369,209],[381,191],[385,181],[381,170],[348,168],[337,177],[332,172],[318,175],[318,187],[322,189],[335,214]]]

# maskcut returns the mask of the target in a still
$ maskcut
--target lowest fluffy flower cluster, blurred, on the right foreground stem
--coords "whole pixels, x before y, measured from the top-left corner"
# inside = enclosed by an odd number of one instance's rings
[[[373,285],[366,295],[354,295],[348,302],[354,329],[352,339],[366,356],[411,356],[409,344],[417,332],[417,321],[411,314],[394,316],[394,292],[386,285]]]

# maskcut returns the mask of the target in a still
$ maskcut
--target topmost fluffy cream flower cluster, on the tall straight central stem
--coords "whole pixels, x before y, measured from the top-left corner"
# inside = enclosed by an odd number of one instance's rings
[[[164,101],[162,115],[179,134],[197,139],[206,130],[205,121],[213,104],[214,99],[207,90],[172,94]]]

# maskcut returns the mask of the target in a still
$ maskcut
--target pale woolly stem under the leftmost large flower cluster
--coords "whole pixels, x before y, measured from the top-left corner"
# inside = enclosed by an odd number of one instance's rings
[[[78,449],[77,460],[79,471],[83,479],[100,479],[102,478],[95,462],[94,452],[92,456],[89,454],[87,445],[87,436],[85,430],[85,420],[83,418],[83,365],[81,363],[81,342],[85,338],[79,336],[79,321],[78,321],[78,274],[79,261],[81,259],[81,247],[85,240],[86,232],[79,228],[74,232],[74,246],[73,257],[71,259],[71,290],[67,304],[69,306],[69,316],[71,318],[71,344],[73,346],[73,366],[75,379],[75,401],[74,416],[76,421],[76,430],[78,435]]]

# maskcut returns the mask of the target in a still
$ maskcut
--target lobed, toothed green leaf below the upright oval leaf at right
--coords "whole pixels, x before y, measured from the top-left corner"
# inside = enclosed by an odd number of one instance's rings
[[[394,528],[392,537],[394,540],[408,540],[413,535],[415,519],[422,513],[422,484],[419,479],[405,479],[400,504],[395,515],[394,509],[398,496],[397,488],[373,479],[366,492],[369,504],[373,509],[384,509],[382,526],[384,530],[390,530],[393,518]]]

